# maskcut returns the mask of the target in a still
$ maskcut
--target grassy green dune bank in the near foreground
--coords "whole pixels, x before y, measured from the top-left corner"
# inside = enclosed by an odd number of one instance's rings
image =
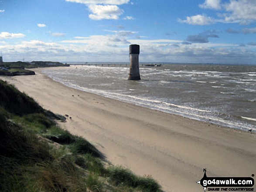
[[[0,80],[0,191],[157,192],[151,177],[114,167],[65,120]]]

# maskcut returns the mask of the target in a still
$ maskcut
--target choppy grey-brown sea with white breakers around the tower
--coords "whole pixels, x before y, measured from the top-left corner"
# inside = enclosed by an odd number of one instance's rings
[[[127,80],[129,66],[80,63],[42,72],[103,97],[256,132],[256,65],[143,63],[138,81]]]

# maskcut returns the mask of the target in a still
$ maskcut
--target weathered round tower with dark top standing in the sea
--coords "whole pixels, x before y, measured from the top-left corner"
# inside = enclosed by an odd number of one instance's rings
[[[140,45],[130,45],[130,71],[128,80],[140,80]]]

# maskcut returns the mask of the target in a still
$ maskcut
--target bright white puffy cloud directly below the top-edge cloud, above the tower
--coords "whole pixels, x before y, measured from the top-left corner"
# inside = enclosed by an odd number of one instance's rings
[[[119,19],[119,15],[123,14],[123,10],[116,5],[89,5],[89,10],[93,13],[89,15],[92,20],[102,19]]]

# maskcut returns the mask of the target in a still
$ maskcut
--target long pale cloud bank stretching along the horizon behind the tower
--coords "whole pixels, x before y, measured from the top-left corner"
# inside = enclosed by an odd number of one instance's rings
[[[6,60],[18,61],[26,56],[27,61],[102,61],[129,62],[129,44],[140,44],[141,62],[211,62],[255,63],[256,52],[250,43],[248,49],[239,44],[184,44],[180,40],[125,39],[116,35],[97,35],[66,40],[57,43],[40,40],[0,44]],[[113,57],[115,55],[115,57]]]

